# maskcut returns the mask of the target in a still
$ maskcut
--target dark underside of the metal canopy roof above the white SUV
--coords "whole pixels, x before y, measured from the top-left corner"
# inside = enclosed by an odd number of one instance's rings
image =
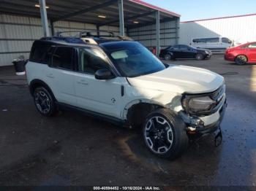
[[[83,23],[91,23],[99,26],[107,23],[110,26],[119,26],[118,0],[46,0],[47,15],[49,20],[69,20]],[[15,15],[30,15],[40,17],[39,8],[35,0],[0,0],[0,12]],[[172,19],[180,15],[155,7],[139,0],[124,0],[124,24],[125,27],[136,27],[150,23],[155,19],[154,11],[160,12],[160,19]],[[152,13],[152,14],[151,14]],[[98,17],[104,15],[105,18]]]

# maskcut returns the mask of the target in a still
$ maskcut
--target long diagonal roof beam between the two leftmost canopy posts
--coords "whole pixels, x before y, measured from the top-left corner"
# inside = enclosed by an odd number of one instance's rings
[[[59,18],[56,18],[53,20],[53,22],[56,22],[58,20],[64,20],[64,19],[67,19],[69,17],[74,17],[76,15],[81,15],[81,14],[84,14],[86,12],[91,12],[91,11],[95,11],[97,9],[100,9],[100,8],[103,8],[103,7],[108,7],[110,6],[111,4],[114,4],[114,3],[117,3],[117,0],[110,0],[110,1],[106,1],[105,3],[103,4],[97,4],[93,7],[89,7],[89,8],[86,8],[86,9],[82,9],[80,11],[77,11],[77,12],[72,12],[70,14],[67,14],[67,15],[64,15],[64,16],[61,16]]]

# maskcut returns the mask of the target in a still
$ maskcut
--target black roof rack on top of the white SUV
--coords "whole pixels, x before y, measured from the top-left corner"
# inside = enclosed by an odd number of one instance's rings
[[[63,34],[72,33],[74,36],[64,36]],[[61,31],[56,36],[42,38],[45,40],[64,41],[76,44],[100,44],[111,41],[133,41],[128,36],[116,36],[113,32],[103,30],[86,30],[86,31]]]

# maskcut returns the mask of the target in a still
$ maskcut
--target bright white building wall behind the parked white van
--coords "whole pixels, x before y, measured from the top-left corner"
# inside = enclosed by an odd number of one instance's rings
[[[192,38],[215,36],[224,36],[236,43],[256,41],[256,15],[185,22],[180,27],[181,44],[189,44]]]

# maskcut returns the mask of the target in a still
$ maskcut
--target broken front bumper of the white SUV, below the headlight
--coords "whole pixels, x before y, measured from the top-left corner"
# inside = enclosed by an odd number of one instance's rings
[[[197,134],[197,136],[206,136],[210,133],[216,132],[225,114],[227,108],[227,100],[223,101],[222,106],[219,107],[214,114],[203,117],[191,117],[185,112],[179,112],[182,120],[187,124],[187,132],[189,134]]]

